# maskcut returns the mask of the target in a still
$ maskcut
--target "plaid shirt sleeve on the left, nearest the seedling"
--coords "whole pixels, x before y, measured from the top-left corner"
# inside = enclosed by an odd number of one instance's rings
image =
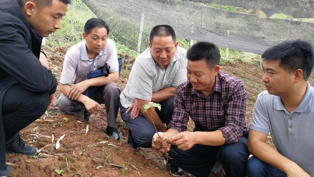
[[[189,121],[189,113],[184,106],[184,100],[180,91],[176,92],[176,96],[173,103],[172,120],[168,125],[168,128],[175,129],[178,132],[187,130],[187,122]]]

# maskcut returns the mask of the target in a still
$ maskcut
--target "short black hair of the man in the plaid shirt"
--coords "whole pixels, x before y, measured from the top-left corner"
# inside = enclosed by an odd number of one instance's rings
[[[187,59],[198,61],[205,59],[210,69],[220,63],[220,51],[216,45],[210,42],[198,42],[187,50]]]

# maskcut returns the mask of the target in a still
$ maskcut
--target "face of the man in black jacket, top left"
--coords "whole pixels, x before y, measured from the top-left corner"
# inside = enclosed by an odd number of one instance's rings
[[[49,34],[61,29],[61,18],[67,12],[67,4],[59,0],[52,0],[51,6],[38,7],[35,3],[28,6],[25,4],[25,10],[28,15],[27,21],[30,26],[42,37],[48,37]]]

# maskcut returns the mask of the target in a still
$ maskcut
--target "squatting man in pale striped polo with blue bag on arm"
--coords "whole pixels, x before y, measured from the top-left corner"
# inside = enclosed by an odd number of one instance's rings
[[[119,140],[116,117],[119,110],[120,89],[115,82],[119,78],[116,44],[108,39],[109,28],[98,18],[89,19],[84,26],[82,41],[72,46],[64,57],[60,79],[62,92],[57,107],[62,112],[76,114],[89,121],[91,113],[99,111],[105,104],[108,115],[106,133]],[[105,64],[110,66],[109,75],[87,79],[87,73],[98,70]],[[74,80],[73,80],[74,78]],[[100,92],[85,96],[91,86],[101,86]]]

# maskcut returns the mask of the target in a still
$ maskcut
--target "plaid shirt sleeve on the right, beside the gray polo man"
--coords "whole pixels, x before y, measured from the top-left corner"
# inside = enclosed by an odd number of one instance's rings
[[[238,142],[243,135],[245,125],[246,91],[239,81],[229,102],[226,104],[225,126],[219,128],[226,139],[226,144]]]

